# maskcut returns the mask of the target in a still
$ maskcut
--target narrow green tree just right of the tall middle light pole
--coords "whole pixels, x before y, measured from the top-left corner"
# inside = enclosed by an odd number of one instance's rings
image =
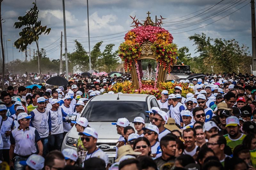
[[[101,52],[100,52],[100,46],[103,43],[103,41],[97,42],[91,51],[91,63],[92,63],[92,70],[97,70],[98,65],[100,65],[101,58]]]

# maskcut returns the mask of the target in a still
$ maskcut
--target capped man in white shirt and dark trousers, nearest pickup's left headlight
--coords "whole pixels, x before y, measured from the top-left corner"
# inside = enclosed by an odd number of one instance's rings
[[[49,151],[61,149],[63,141],[63,120],[65,121],[66,114],[63,109],[60,108],[60,101],[58,99],[52,99],[51,115],[51,135],[49,137]]]

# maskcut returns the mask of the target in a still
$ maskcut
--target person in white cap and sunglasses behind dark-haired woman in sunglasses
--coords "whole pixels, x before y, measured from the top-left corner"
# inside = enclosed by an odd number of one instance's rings
[[[144,137],[148,139],[151,146],[151,153],[154,158],[159,158],[162,156],[162,151],[160,148],[160,142],[158,141],[159,129],[156,125],[148,124],[143,128]]]

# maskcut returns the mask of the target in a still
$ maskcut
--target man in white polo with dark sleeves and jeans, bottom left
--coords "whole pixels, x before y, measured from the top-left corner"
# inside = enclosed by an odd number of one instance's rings
[[[29,126],[31,116],[23,112],[17,116],[17,121],[20,126],[13,129],[10,136],[10,167],[15,170],[23,170],[25,166],[20,164],[20,161],[28,159],[28,157],[37,152],[36,144],[38,146],[38,155],[43,154],[43,144],[41,142],[39,133],[34,127]],[[14,154],[16,155],[14,157]],[[15,160],[14,164],[13,161]]]

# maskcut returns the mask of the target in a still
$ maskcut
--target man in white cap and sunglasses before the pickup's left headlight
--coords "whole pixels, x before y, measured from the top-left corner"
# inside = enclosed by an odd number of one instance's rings
[[[96,130],[91,127],[87,127],[84,129],[84,132],[80,132],[78,135],[82,135],[80,139],[83,141],[83,145],[87,149],[85,160],[97,157],[103,159],[107,166],[108,155],[97,147],[98,133]]]

